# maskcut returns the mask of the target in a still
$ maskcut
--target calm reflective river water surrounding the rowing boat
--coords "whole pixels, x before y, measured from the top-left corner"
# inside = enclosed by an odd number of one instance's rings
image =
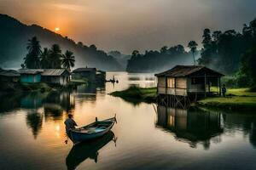
[[[154,75],[108,72],[118,84],[0,99],[0,169],[256,169],[256,115],[134,104],[108,95],[154,87]],[[63,122],[117,115],[113,133],[73,147]]]

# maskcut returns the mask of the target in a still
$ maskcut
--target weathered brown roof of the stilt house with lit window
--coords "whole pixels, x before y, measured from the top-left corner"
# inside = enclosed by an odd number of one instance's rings
[[[196,72],[207,72],[207,75],[222,77],[223,74],[218,71],[213,71],[205,66],[196,65],[176,65],[169,71],[164,71],[159,74],[155,74],[156,77],[189,77]]]

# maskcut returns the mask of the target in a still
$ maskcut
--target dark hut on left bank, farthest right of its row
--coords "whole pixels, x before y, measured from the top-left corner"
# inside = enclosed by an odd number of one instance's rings
[[[106,72],[97,71],[96,68],[78,68],[73,71],[73,77],[86,78],[90,82],[104,82],[106,79]]]

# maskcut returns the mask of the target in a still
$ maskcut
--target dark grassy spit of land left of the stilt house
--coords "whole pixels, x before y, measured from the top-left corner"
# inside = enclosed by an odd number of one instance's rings
[[[156,98],[156,88],[137,88],[131,87],[123,91],[116,91],[111,93],[115,97],[120,97],[133,104],[141,102],[153,103]]]

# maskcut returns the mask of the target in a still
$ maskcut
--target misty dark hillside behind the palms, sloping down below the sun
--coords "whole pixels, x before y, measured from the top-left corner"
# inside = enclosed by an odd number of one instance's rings
[[[75,67],[87,65],[104,71],[122,70],[113,56],[98,50],[95,45],[87,47],[41,26],[26,26],[6,14],[0,14],[0,67],[20,68],[27,53],[27,40],[34,36],[38,37],[42,48],[49,48],[57,43],[61,46],[62,53],[67,49],[73,51],[76,57]]]

